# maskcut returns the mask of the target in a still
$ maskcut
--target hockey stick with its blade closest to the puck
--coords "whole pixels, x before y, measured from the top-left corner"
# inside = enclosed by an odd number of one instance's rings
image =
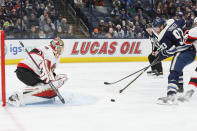
[[[131,82],[129,82],[129,84],[127,84],[123,89],[121,89],[121,90],[119,91],[119,93],[122,93],[125,89],[127,89],[135,80],[137,80],[137,78],[139,78],[144,72],[146,72],[146,70],[147,70],[149,67],[151,67],[152,65],[154,65],[154,64],[156,64],[156,63],[158,63],[158,62],[160,62],[160,61],[158,61],[158,59],[159,59],[159,57],[157,57],[157,58],[152,62],[152,64],[150,64],[149,66],[145,67],[145,68],[142,70],[142,72],[141,72],[137,77],[135,77]]]

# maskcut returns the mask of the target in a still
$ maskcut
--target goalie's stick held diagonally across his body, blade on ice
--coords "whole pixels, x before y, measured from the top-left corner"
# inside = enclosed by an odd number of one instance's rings
[[[28,56],[31,58],[31,60],[33,61],[33,63],[36,65],[36,67],[40,70],[38,64],[36,63],[36,61],[33,59],[33,57],[29,54],[28,50],[24,47],[23,43],[21,41],[19,41],[20,45],[25,49],[25,52],[28,54]],[[60,101],[65,104],[65,100],[64,98],[61,96],[61,94],[59,93],[59,91],[55,88],[55,86],[53,85],[53,83],[51,81],[49,81],[49,85],[50,87],[53,89],[53,91],[56,93],[56,95],[58,96],[58,98],[60,99]]]

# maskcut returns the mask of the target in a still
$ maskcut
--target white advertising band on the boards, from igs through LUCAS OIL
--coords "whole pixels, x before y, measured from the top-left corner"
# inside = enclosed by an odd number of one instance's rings
[[[21,40],[29,51],[49,45],[52,39]],[[151,52],[148,39],[63,39],[61,58],[73,57],[147,57]],[[6,40],[7,59],[23,59],[27,54],[18,40]]]

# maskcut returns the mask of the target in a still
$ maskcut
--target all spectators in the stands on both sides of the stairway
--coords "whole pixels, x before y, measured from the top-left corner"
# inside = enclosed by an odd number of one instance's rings
[[[23,38],[52,38],[54,35],[67,38],[73,35],[72,25],[56,12],[53,1],[22,0],[22,10],[20,1],[0,1],[0,29],[5,31],[6,38],[21,38],[21,35]],[[77,6],[91,7],[91,0],[73,1]],[[145,26],[155,17],[184,18],[186,29],[189,29],[197,16],[196,0],[93,0],[93,8],[104,7],[106,1],[111,3],[111,19],[99,20],[98,26],[92,28],[93,38],[147,38]]]

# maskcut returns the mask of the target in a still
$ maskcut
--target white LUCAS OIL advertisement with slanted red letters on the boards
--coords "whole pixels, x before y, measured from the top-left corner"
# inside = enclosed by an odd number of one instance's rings
[[[84,56],[110,56],[131,57],[147,56],[150,53],[151,44],[149,40],[140,39],[96,39],[96,40],[74,40],[69,50],[71,57]],[[70,43],[69,43],[70,44]],[[150,46],[150,47],[149,47]]]

